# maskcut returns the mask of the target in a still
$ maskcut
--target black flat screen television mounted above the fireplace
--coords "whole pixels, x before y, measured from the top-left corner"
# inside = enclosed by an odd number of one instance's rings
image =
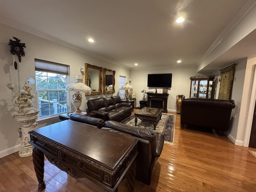
[[[172,87],[172,74],[148,74],[148,87]]]

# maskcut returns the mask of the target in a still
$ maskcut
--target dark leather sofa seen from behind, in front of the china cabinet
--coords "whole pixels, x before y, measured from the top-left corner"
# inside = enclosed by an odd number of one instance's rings
[[[180,112],[181,128],[184,125],[227,131],[234,100],[187,98],[182,100]]]

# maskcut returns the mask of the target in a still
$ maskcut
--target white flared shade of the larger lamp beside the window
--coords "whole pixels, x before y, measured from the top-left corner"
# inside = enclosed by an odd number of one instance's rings
[[[66,90],[68,91],[75,91],[75,92],[84,92],[87,94],[91,94],[91,88],[84,84],[83,82],[84,76],[76,75],[76,81],[74,83],[68,84],[66,86]]]

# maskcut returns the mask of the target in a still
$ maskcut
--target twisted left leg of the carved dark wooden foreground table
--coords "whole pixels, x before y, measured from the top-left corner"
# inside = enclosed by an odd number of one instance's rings
[[[44,184],[44,153],[39,149],[33,147],[33,164],[38,180],[38,191],[45,189]]]

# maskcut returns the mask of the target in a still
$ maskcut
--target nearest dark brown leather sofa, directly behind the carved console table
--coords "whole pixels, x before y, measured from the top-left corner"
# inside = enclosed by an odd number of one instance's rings
[[[136,180],[150,185],[152,173],[164,146],[164,136],[160,133],[139,127],[128,126],[116,121],[106,121],[79,114],[70,116],[70,120],[87,124],[102,131],[111,131],[138,139],[138,156],[136,157]]]

